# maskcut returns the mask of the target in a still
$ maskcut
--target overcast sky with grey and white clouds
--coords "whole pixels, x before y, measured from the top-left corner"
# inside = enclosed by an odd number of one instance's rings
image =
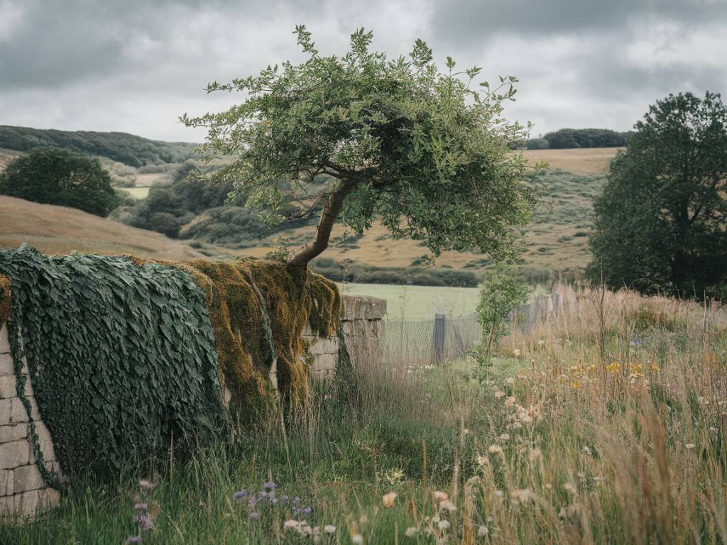
[[[177,118],[235,94],[208,81],[325,54],[364,26],[398,56],[422,38],[438,60],[517,76],[510,118],[533,136],[629,129],[670,92],[727,90],[727,0],[0,0],[0,124],[200,141]]]

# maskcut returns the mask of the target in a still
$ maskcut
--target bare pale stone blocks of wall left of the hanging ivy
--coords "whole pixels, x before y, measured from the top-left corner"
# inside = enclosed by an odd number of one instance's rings
[[[23,374],[28,369],[23,362]],[[17,396],[17,376],[10,356],[7,326],[0,329],[0,517],[31,517],[36,510],[58,503],[60,494],[49,488],[36,464],[28,437],[28,413]],[[36,424],[41,451],[48,469],[59,469],[47,427],[40,419],[33,397],[30,377],[25,382],[25,396],[31,402],[31,416]]]

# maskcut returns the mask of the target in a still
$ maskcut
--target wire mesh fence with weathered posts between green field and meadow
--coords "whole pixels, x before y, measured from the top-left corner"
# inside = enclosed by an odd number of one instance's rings
[[[560,304],[558,294],[538,296],[513,310],[509,317],[511,326],[528,333],[538,321],[553,318]],[[448,318],[441,313],[435,314],[433,320],[387,322],[382,339],[385,359],[390,363],[427,366],[465,358],[482,338],[477,316],[474,313]]]

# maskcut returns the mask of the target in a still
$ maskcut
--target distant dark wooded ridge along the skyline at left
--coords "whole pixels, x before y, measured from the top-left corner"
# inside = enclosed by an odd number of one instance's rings
[[[195,144],[159,142],[124,132],[71,132],[0,125],[0,148],[15,151],[65,148],[76,153],[107,157],[113,161],[139,167],[185,161],[192,156]]]

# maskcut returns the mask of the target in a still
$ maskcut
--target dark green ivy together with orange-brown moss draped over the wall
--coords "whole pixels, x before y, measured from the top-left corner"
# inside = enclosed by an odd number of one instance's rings
[[[67,475],[115,475],[276,395],[305,396],[310,323],[338,325],[337,286],[278,262],[142,262],[0,250],[12,279],[9,336],[28,359],[41,415]],[[9,292],[0,277],[1,296]],[[8,297],[9,299],[9,297]],[[23,343],[17,342],[22,332]],[[13,342],[15,338],[16,342]]]

